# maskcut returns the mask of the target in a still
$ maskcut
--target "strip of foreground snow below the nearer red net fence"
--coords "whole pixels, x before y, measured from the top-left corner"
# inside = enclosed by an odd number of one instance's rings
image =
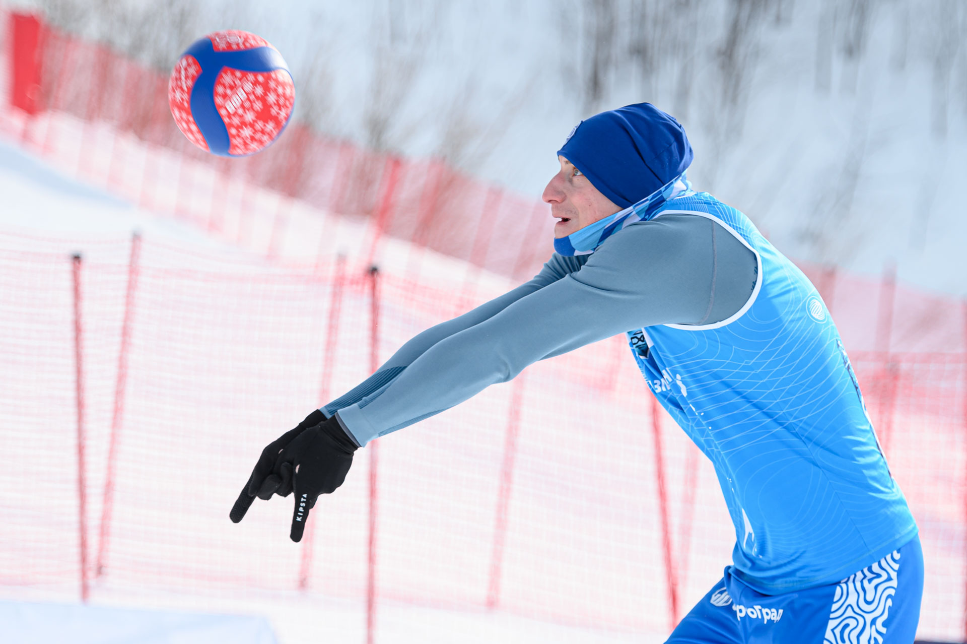
[[[29,597],[29,593],[27,594]],[[138,606],[144,605],[144,608]],[[119,607],[123,606],[123,607]],[[162,608],[163,607],[163,608]],[[205,612],[201,612],[205,611]],[[262,617],[267,616],[268,619]],[[201,644],[213,637],[230,637],[239,644],[310,644],[314,642],[363,642],[366,610],[358,601],[306,596],[253,599],[251,595],[190,596],[152,592],[138,597],[136,591],[112,595],[99,593],[84,607],[57,601],[0,599],[4,641],[9,644],[68,641],[76,644],[106,641],[143,644],[150,637],[171,637],[179,644]],[[271,626],[270,626],[271,623]],[[659,634],[607,632],[601,629],[568,628],[517,615],[480,611],[453,611],[394,601],[381,601],[375,640],[380,644],[658,644]],[[82,633],[90,639],[77,639]],[[128,637],[124,639],[123,637]],[[157,641],[169,641],[158,639]]]

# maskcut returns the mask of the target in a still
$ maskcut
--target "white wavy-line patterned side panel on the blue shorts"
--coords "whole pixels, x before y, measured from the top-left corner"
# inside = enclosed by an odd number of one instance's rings
[[[900,553],[894,550],[839,582],[823,644],[882,644],[899,568]]]

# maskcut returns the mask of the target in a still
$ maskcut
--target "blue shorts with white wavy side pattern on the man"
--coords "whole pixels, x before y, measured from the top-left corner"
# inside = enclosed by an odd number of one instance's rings
[[[911,644],[923,596],[920,538],[839,583],[784,595],[725,576],[668,644]]]

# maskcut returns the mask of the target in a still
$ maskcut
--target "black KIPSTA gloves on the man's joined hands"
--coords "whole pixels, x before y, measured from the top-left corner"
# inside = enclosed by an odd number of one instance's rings
[[[325,420],[321,412],[312,412],[262,450],[229,517],[235,523],[241,521],[256,496],[270,499],[295,490],[289,538],[300,541],[308,511],[320,494],[332,493],[345,481],[357,449],[335,418]]]

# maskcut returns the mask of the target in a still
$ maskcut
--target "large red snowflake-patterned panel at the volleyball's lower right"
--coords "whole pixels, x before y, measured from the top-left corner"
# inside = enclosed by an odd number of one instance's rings
[[[215,106],[228,129],[228,154],[249,155],[271,143],[292,113],[292,77],[225,68],[215,81]]]

